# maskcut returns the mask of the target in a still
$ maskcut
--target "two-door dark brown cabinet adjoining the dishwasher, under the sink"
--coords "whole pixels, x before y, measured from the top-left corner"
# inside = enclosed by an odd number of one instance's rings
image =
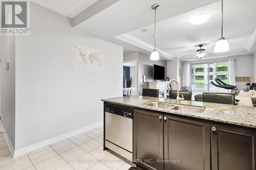
[[[142,109],[134,111],[134,156],[143,160],[140,165],[159,170],[210,169],[209,123]]]

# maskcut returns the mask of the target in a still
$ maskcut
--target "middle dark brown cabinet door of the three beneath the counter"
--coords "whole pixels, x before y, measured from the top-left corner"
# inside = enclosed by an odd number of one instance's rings
[[[164,115],[164,160],[164,169],[209,170],[210,123]]]

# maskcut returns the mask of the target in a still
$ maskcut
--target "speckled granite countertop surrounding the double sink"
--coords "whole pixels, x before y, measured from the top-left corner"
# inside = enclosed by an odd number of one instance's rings
[[[203,113],[192,113],[188,111],[169,110],[144,105],[150,102],[165,102],[170,104],[177,104],[175,99],[152,98],[147,96],[131,95],[121,96],[118,98],[103,99],[101,101],[113,104],[120,104],[124,106],[184,115],[189,117],[202,118],[206,120],[213,120],[215,122],[227,123],[232,125],[256,128],[256,107],[225,105],[196,101],[181,101],[179,105],[206,108]]]

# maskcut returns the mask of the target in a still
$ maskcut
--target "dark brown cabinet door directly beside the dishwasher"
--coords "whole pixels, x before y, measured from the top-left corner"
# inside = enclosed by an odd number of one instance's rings
[[[163,169],[163,114],[134,109],[134,158],[138,165],[151,169]]]

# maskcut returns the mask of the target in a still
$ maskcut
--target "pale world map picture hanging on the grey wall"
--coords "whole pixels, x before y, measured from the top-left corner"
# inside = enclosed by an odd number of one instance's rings
[[[102,71],[103,52],[87,46],[74,44],[74,69]]]

